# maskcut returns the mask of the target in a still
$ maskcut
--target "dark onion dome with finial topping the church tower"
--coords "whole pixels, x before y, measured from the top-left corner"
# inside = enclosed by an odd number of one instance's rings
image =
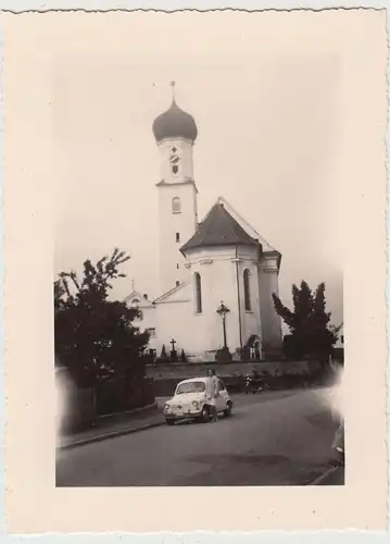
[[[174,87],[174,84],[171,85]],[[198,128],[192,115],[183,111],[173,96],[171,108],[154,120],[153,135],[156,141],[164,138],[186,138],[194,141]]]

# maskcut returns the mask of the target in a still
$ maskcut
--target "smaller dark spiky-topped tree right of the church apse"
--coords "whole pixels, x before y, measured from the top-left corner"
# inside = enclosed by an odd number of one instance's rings
[[[315,292],[304,281],[300,287],[292,285],[293,310],[284,306],[275,293],[273,299],[276,312],[290,330],[284,338],[285,355],[288,358],[315,356],[327,360],[340,327],[329,325],[331,313],[326,311],[325,283],[320,283]]]

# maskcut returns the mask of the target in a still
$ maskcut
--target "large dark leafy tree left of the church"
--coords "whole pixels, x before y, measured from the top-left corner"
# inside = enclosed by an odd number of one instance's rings
[[[118,269],[128,259],[115,249],[96,264],[86,260],[81,277],[62,272],[54,282],[55,354],[79,385],[104,375],[144,374],[140,354],[149,334],[131,324],[138,310],[109,300],[112,282],[125,277]]]

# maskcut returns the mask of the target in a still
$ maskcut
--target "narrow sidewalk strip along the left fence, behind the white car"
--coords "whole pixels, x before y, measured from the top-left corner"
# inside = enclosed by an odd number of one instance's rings
[[[99,418],[93,426],[85,431],[59,437],[58,449],[71,448],[113,438],[162,425],[164,416],[158,403],[152,406],[113,416]]]

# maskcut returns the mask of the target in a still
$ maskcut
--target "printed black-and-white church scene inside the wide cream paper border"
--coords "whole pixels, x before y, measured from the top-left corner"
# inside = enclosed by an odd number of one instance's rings
[[[342,485],[338,59],[166,62],[53,73],[56,485]]]

